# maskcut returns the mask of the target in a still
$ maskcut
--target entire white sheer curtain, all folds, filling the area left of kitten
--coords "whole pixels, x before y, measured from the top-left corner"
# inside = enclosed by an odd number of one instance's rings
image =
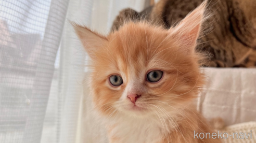
[[[0,142],[97,142],[96,132],[81,132],[82,117],[91,118],[82,108],[89,105],[86,53],[68,20],[107,34],[121,9],[146,3],[0,1]]]

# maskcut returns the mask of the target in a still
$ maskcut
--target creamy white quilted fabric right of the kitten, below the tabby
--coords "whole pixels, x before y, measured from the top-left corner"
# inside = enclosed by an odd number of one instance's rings
[[[205,68],[208,82],[198,100],[207,119],[221,117],[226,125],[256,121],[256,69]]]

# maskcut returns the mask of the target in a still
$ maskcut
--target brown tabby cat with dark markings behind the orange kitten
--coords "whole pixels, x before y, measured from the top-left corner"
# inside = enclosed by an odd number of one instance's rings
[[[203,0],[160,0],[155,6],[136,12],[124,9],[114,21],[112,30],[118,30],[126,20],[146,19],[153,24],[170,28],[200,5]],[[211,53],[203,66],[256,66],[256,1],[211,0],[208,12],[212,16],[204,23],[204,36],[198,40],[197,50]]]

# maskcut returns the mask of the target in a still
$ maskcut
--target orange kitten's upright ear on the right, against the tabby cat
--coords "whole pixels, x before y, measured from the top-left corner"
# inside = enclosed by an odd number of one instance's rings
[[[171,28],[172,35],[182,44],[186,52],[194,52],[197,38],[204,20],[207,1],[204,1],[194,11],[190,12],[177,26]]]

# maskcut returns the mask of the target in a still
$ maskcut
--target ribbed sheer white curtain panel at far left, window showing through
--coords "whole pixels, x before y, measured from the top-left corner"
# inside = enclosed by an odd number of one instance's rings
[[[40,142],[68,0],[0,2],[0,142]]]

